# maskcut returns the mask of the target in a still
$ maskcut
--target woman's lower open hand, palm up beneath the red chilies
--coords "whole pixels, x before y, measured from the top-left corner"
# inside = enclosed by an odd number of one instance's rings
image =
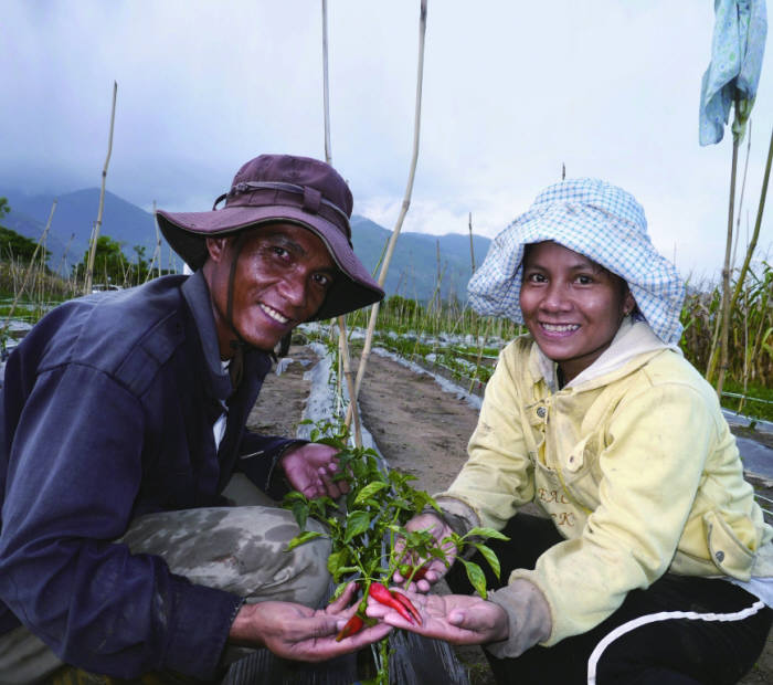
[[[384,623],[452,644],[487,644],[508,636],[507,612],[475,596],[405,592],[422,616],[421,624],[406,621],[394,609],[369,599],[367,614]]]

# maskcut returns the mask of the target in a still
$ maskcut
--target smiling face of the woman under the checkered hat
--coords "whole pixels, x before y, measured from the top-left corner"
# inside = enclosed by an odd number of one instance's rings
[[[569,382],[610,347],[636,303],[620,276],[543,242],[526,246],[520,306],[537,345]]]

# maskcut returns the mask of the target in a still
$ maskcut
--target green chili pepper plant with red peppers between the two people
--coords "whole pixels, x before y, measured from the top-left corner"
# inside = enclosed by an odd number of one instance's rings
[[[410,559],[441,559],[446,562],[443,549],[428,530],[405,529],[405,524],[417,513],[431,507],[440,513],[435,500],[424,491],[414,489],[411,481],[415,476],[390,470],[380,455],[371,449],[350,445],[347,430],[342,425],[318,424],[311,430],[311,441],[331,445],[339,450],[340,473],[338,478],[349,483],[349,492],[338,502],[330,497],[309,499],[299,492],[289,493],[283,506],[295,516],[300,534],[288,545],[288,550],[318,537],[328,537],[332,550],[328,558],[328,571],[337,583],[332,598],[340,596],[347,583],[357,581],[362,599],[357,614],[338,635],[345,640],[359,631],[364,623],[367,598],[389,603],[409,621],[420,621],[410,600],[398,590],[389,590],[396,570],[406,579],[405,584],[419,580],[424,566],[407,562]],[[306,530],[309,517],[322,523],[326,534]],[[481,568],[463,552],[475,547],[499,577],[499,561],[483,540],[507,539],[493,528],[474,528],[464,536],[452,534],[441,541],[451,542],[456,549],[457,560],[465,566],[467,577],[475,590],[486,599],[486,580]],[[401,539],[400,547],[396,546]],[[411,605],[409,605],[411,604]],[[398,609],[400,605],[402,609]],[[389,683],[389,644],[384,639],[373,649],[377,676],[370,681],[378,685]]]

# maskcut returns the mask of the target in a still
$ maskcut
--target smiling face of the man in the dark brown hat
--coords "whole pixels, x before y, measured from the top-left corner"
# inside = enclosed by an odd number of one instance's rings
[[[235,238],[207,240],[204,277],[212,295],[220,354],[233,356],[227,292]],[[317,313],[337,268],[322,241],[293,223],[248,230],[236,264],[232,323],[250,345],[269,351],[282,337]]]

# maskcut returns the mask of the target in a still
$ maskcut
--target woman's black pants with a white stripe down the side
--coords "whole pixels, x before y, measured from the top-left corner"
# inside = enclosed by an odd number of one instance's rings
[[[489,589],[507,584],[513,569],[534,568],[563,539],[549,519],[526,514],[502,533],[509,542],[487,542],[499,558],[501,580],[479,556],[473,558]],[[473,592],[460,563],[446,578],[453,592]],[[617,611],[582,635],[534,646],[518,658],[486,656],[497,683],[735,683],[754,665],[772,621],[771,609],[726,580],[667,573],[646,590],[628,592]]]

